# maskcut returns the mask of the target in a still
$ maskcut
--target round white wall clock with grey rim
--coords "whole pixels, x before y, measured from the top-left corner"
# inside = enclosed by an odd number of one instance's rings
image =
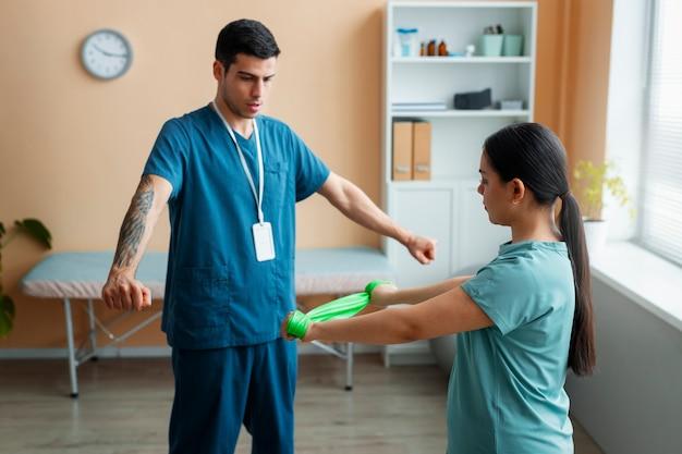
[[[98,78],[120,77],[131,65],[133,49],[123,35],[112,29],[90,34],[83,42],[81,61]]]

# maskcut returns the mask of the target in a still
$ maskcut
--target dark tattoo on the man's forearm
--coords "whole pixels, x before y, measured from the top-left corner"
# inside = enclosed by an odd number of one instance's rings
[[[119,245],[113,257],[114,267],[130,267],[137,254],[139,242],[145,233],[147,213],[154,203],[154,185],[151,177],[144,175],[133,196],[131,207],[125,213],[119,234]]]

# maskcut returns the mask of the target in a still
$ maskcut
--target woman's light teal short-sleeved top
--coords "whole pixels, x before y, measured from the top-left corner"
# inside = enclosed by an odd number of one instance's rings
[[[575,290],[565,243],[503,244],[462,290],[494,326],[458,334],[448,454],[573,453],[563,385]]]

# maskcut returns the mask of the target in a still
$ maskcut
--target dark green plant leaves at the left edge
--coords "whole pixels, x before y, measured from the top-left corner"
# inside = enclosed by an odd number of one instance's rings
[[[14,302],[10,295],[5,295],[2,287],[2,249],[20,234],[35,240],[47,249],[52,248],[52,235],[37,219],[14,221],[9,230],[0,222],[0,338],[5,338],[12,331],[15,312]]]

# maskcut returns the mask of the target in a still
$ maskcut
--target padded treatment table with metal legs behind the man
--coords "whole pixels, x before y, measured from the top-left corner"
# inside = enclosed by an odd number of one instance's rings
[[[114,334],[110,328],[130,312],[123,312],[108,323],[96,317],[93,302],[101,300],[101,289],[112,261],[113,253],[107,251],[58,253],[37,263],[21,282],[22,291],[29,296],[62,300],[72,397],[78,395],[76,373],[78,366],[96,357],[100,348],[124,341],[161,317],[161,311],[151,312],[144,321],[121,334]],[[146,253],[137,269],[136,278],[150,290],[153,299],[163,298],[167,262],[166,253]],[[374,279],[393,279],[386,256],[380,250],[368,247],[299,249],[295,267],[295,289],[299,296],[316,294],[342,296],[364,291],[367,282]],[[81,303],[89,320],[88,336],[77,349],[73,335],[72,300]],[[98,330],[109,339],[110,342],[106,345],[97,345]],[[319,342],[313,344],[345,360],[345,389],[351,390],[353,344],[346,343],[343,346]]]

